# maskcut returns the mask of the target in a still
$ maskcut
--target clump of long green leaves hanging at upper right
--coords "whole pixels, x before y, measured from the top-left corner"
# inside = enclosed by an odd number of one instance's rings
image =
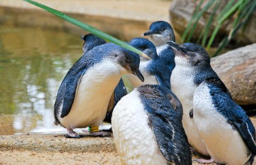
[[[212,8],[212,12],[208,18],[208,21],[206,22],[206,26],[203,28],[202,33],[197,39],[197,44],[201,44],[203,47],[206,46],[206,48],[210,48],[224,22],[229,17],[233,17],[233,26],[231,27],[229,34],[227,36],[224,36],[220,44],[218,44],[217,51],[213,55],[213,57],[217,56],[218,53],[220,53],[223,48],[227,46],[228,43],[234,38],[235,34],[240,28],[243,28],[242,30],[245,29],[246,23],[256,7],[256,1],[254,0],[230,0],[220,11],[220,13],[215,17],[217,9],[220,8],[221,3],[225,2],[226,1],[221,0],[210,0],[208,3],[205,4],[202,9],[200,9],[203,3],[203,0],[200,0],[197,5],[196,11],[194,12],[191,20],[188,22],[187,28],[182,35],[181,42],[191,41],[192,35],[196,30],[200,18],[206,11]],[[210,38],[208,38],[210,27],[213,24],[215,24],[216,27],[212,32]]]

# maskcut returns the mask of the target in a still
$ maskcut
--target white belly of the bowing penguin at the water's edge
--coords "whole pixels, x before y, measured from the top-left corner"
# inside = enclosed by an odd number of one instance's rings
[[[81,78],[69,114],[59,119],[66,128],[102,124],[111,95],[121,78],[118,66],[109,60],[104,63],[89,68]]]

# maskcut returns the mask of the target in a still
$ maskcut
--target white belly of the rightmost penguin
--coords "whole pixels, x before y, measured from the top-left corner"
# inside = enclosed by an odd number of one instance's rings
[[[206,85],[199,85],[193,102],[194,122],[212,158],[223,164],[245,164],[251,156],[247,155],[247,146],[240,133],[216,111]]]

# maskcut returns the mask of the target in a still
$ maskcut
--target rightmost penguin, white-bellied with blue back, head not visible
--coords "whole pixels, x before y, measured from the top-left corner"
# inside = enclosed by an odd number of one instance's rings
[[[205,66],[210,67],[210,62]],[[194,123],[214,162],[252,164],[256,155],[255,128],[227,91],[218,77],[200,83],[193,97]]]

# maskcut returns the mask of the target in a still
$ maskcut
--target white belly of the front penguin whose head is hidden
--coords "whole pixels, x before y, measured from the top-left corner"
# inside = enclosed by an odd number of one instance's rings
[[[122,164],[167,164],[160,152],[153,131],[148,123],[135,89],[124,96],[112,114],[112,130],[115,146]]]

